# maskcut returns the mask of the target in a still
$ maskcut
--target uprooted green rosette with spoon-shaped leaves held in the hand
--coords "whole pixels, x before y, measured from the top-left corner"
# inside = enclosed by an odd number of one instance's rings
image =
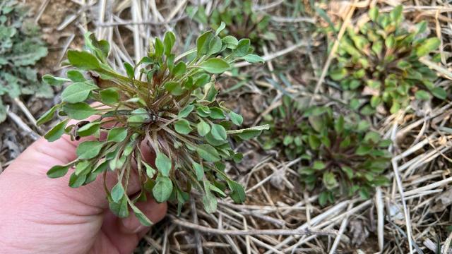
[[[226,160],[242,159],[232,150],[229,137],[240,142],[268,126],[234,130],[233,126],[242,124],[242,116],[216,98],[215,75],[229,70],[238,59],[261,59],[250,54],[248,39],[220,38],[219,32],[203,33],[196,49],[179,56],[172,50],[176,37],[166,32],[163,40],[150,43],[148,55],[135,66],[124,63],[126,76],[109,66],[108,42],[85,35],[89,51],[68,52],[74,69],[67,78],[44,76],[47,83],[71,85],[62,92],[62,102],[38,123],[49,121],[58,111],[68,118],[45,135],[47,140],[57,140],[64,133],[76,140],[98,138],[80,143],[77,159],[52,167],[47,175],[61,177],[74,168],[69,186],[76,188],[99,174],[116,172],[118,183],[107,190],[112,212],[127,217],[131,207],[143,224],[150,222],[134,203],[148,195],[157,202],[178,202],[179,212],[192,189],[202,195],[207,212],[216,210],[216,197],[244,202],[244,188],[225,174]],[[85,78],[87,72],[91,78]],[[78,123],[68,126],[70,119]],[[143,159],[143,145],[155,152],[155,163]],[[141,193],[131,199],[125,193],[133,171],[142,186]]]

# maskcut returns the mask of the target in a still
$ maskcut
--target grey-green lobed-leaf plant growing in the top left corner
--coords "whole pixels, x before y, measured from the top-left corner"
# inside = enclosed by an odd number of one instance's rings
[[[0,3],[0,122],[6,119],[3,95],[51,97],[52,88],[37,80],[32,66],[47,56],[40,29],[27,20],[27,11],[17,1]]]

